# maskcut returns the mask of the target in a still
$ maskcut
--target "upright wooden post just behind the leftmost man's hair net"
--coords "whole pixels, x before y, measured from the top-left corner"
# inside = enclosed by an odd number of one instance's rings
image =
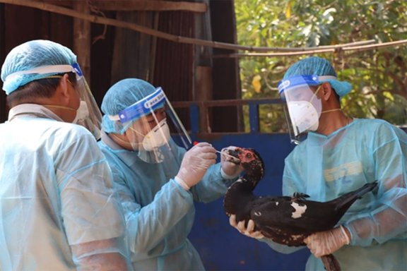
[[[81,13],[90,13],[87,1],[73,1],[73,9]],[[78,57],[83,76],[90,84],[90,22],[79,18],[73,18],[73,52]]]

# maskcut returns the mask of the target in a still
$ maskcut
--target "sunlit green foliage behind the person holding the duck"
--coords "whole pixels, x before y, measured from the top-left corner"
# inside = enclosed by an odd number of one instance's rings
[[[235,13],[238,42],[247,46],[298,48],[407,38],[407,1],[235,0]],[[342,101],[346,114],[407,124],[407,44],[318,56],[331,61],[339,80],[353,85]],[[278,98],[276,87],[285,70],[305,57],[240,59],[242,97]],[[256,76],[259,82],[253,80]],[[276,106],[262,108],[262,131],[281,131],[282,114]]]

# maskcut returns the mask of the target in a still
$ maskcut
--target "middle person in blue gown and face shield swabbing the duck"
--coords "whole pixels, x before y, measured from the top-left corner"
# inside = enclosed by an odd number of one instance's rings
[[[194,200],[223,196],[242,168],[224,155],[214,164],[216,150],[208,143],[187,151],[191,140],[165,93],[144,80],[114,84],[102,112],[99,144],[124,207],[134,269],[204,270],[187,239]]]

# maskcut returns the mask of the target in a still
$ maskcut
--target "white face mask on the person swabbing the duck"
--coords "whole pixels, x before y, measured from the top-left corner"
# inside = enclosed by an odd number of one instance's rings
[[[133,128],[131,130],[134,131]],[[155,150],[157,147],[165,145],[170,140],[170,128],[168,127],[167,120],[163,119],[151,131],[144,135],[143,149],[147,151]]]

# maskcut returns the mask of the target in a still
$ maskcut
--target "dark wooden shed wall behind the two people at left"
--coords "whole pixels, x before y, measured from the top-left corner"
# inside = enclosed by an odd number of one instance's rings
[[[232,0],[16,0],[0,4],[0,61],[28,40],[52,40],[78,56],[100,105],[111,85],[141,78],[165,90],[190,128],[184,102],[240,98],[237,59],[208,42],[236,43]],[[10,4],[8,4],[8,2]],[[213,43],[215,44],[215,43]],[[211,45],[211,44],[209,44]],[[0,121],[7,118],[0,92]],[[200,131],[230,132],[242,127],[237,107],[211,107]]]

